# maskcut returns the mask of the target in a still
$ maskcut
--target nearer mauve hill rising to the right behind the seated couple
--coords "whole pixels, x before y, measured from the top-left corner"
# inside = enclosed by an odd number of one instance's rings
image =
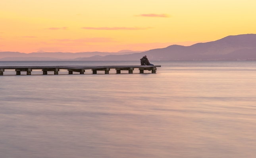
[[[217,41],[196,43],[191,46],[171,45],[130,55],[106,55],[101,58],[75,60],[256,60],[256,34],[227,36]]]

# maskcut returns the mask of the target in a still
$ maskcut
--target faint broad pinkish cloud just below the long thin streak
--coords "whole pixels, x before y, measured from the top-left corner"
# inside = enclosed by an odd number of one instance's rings
[[[88,43],[97,43],[97,42],[114,42],[112,38],[79,38],[75,40],[71,39],[57,39],[59,42],[88,42]]]

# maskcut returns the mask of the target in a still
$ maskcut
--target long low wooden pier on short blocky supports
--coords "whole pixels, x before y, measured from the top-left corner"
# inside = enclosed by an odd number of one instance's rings
[[[21,71],[26,71],[27,75],[31,75],[32,70],[42,70],[43,75],[47,75],[48,71],[54,71],[54,75],[58,75],[60,70],[67,70],[68,74],[79,72],[84,74],[85,70],[92,70],[92,74],[97,74],[97,71],[105,71],[109,74],[110,69],[115,69],[116,73],[121,73],[121,70],[128,70],[128,73],[133,73],[134,69],[139,69],[140,73],[144,70],[151,70],[156,73],[156,68],[161,66],[0,66],[0,75],[4,75],[4,70],[15,70],[16,75],[21,75]]]

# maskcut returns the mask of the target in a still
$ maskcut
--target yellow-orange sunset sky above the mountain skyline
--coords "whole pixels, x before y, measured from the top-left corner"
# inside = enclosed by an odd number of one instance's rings
[[[0,0],[0,51],[145,51],[256,34],[255,6],[255,0]]]

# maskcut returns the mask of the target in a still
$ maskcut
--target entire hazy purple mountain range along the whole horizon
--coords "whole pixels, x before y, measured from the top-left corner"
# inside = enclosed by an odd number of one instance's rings
[[[0,52],[0,60],[80,60],[124,61],[139,60],[147,55],[149,60],[256,60],[256,34],[227,36],[220,40],[196,43],[191,46],[170,45],[149,51],[125,50],[117,53],[19,53]]]

